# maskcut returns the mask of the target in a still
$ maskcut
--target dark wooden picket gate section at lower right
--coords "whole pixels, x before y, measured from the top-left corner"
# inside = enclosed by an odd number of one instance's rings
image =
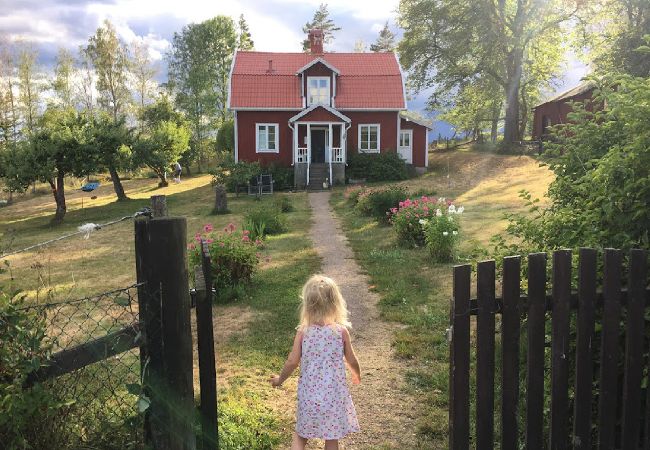
[[[454,267],[449,448],[469,449],[473,438],[478,450],[495,445],[502,450],[650,450],[647,260],[645,251],[630,252],[624,287],[622,252],[605,250],[598,289],[597,251],[581,249],[574,292],[571,251],[556,251],[548,295],[547,255],[531,254],[528,294],[522,295],[521,258],[508,257],[503,261],[500,298],[495,296],[495,262],[485,261],[478,264],[475,299],[470,298],[471,266]],[[495,339],[498,314],[500,345]],[[476,396],[470,399],[472,316],[476,316]],[[525,342],[520,342],[521,336]],[[522,344],[525,357],[520,355]],[[549,372],[550,390],[545,390]],[[495,409],[498,394],[500,408]],[[475,433],[470,428],[470,401],[475,405]],[[525,411],[520,412],[522,404]]]

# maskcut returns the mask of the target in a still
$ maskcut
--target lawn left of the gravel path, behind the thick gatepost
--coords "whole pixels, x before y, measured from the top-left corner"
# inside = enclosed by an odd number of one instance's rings
[[[93,193],[97,196],[93,200],[89,194],[69,191],[68,213],[57,227],[50,225],[51,197],[26,195],[0,210],[0,242],[5,246],[10,242],[11,249],[24,248],[74,232],[84,223],[131,215],[148,206],[151,195],[160,194],[167,196],[170,215],[186,217],[189,242],[206,223],[217,230],[231,222],[239,228],[249,211],[286,197],[293,209],[283,214],[288,231],[266,239],[263,254],[268,260],[253,276],[247,294],[237,302],[214,307],[217,327],[238,308],[252,311],[249,323],[218,344],[220,420],[230,436],[224,437],[224,448],[267,449],[286,444],[293,417],[282,406],[286,404],[282,392],[271,389],[266,380],[269,373],[280,370],[291,346],[299,290],[320,268],[308,238],[311,213],[306,194],[276,193],[259,201],[229,195],[230,214],[212,215],[210,176],[185,177],[181,184],[162,189],[155,186],[154,179],[125,181],[130,200],[124,202],[115,201],[112,186],[106,183]],[[29,301],[60,301],[124,287],[136,279],[132,220],[96,231],[88,240],[74,237],[8,260],[10,271],[0,274],[0,285],[10,283],[24,290]]]

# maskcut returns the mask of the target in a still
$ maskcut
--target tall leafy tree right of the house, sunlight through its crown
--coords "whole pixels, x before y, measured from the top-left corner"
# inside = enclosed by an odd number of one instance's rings
[[[434,89],[434,105],[476,76],[491,78],[503,92],[504,144],[510,145],[522,138],[522,79],[535,63],[531,47],[549,33],[561,35],[575,11],[563,0],[401,0],[401,61],[415,89]],[[561,53],[552,44],[546,51]]]

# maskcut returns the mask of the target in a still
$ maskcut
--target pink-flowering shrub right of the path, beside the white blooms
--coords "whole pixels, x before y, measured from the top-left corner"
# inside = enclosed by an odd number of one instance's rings
[[[397,242],[405,247],[424,246],[424,227],[421,221],[435,219],[447,208],[444,198],[422,196],[399,202],[390,210],[390,222],[397,233]]]

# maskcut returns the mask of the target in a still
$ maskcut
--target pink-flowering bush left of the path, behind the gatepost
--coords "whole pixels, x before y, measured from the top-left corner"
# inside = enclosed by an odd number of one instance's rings
[[[230,300],[239,297],[241,288],[250,283],[260,260],[262,242],[251,239],[247,230],[236,232],[233,224],[223,232],[215,232],[212,225],[205,225],[203,233],[194,236],[197,243],[205,239],[210,253],[213,286],[219,299]],[[201,246],[188,246],[190,267],[201,264]]]

